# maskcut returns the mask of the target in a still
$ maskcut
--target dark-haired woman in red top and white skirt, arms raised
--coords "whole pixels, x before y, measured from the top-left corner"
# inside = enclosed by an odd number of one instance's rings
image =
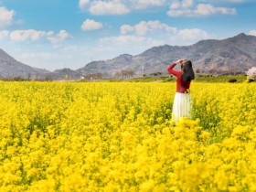
[[[176,71],[176,64],[181,64],[181,70]],[[195,79],[192,62],[187,59],[179,59],[167,69],[169,73],[176,76],[176,95],[173,105],[173,119],[176,124],[180,117],[191,117],[191,96],[189,87],[191,80]]]

